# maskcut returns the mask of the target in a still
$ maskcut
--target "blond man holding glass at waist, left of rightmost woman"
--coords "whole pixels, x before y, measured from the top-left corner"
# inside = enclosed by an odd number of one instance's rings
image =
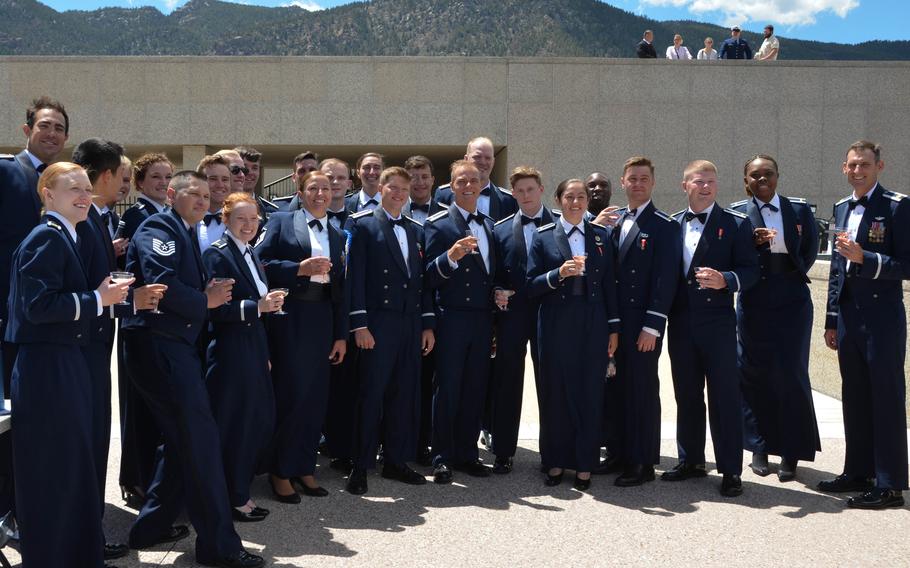
[[[733,294],[751,287],[760,274],[752,223],[742,213],[721,209],[717,167],[707,160],[686,166],[683,190],[689,207],[675,215],[682,227],[682,278],[668,327],[670,365],[676,394],[679,463],[665,481],[704,477],[705,384],[720,492],[742,494],[743,409],[736,361]]]

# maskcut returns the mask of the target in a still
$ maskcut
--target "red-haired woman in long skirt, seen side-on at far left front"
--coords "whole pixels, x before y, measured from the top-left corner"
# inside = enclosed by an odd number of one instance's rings
[[[97,568],[104,565],[103,498],[82,346],[102,308],[124,300],[131,281],[86,281],[75,228],[92,206],[85,170],[53,164],[38,193],[46,213],[13,257],[5,337],[19,348],[12,376],[19,550],[24,566]]]

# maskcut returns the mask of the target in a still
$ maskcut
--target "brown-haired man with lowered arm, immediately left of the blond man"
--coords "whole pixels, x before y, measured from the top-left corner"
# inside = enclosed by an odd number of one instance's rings
[[[653,480],[654,464],[660,461],[657,367],[680,277],[682,243],[679,224],[651,201],[651,160],[641,156],[626,160],[620,181],[629,205],[617,211],[612,236],[623,332],[617,374],[607,381],[607,399],[616,429],[610,449],[624,464],[615,484],[632,487]]]

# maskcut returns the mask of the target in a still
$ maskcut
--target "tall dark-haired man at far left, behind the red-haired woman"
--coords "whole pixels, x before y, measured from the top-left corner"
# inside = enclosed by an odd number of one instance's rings
[[[59,102],[40,97],[25,111],[25,149],[15,156],[0,154],[0,376],[9,396],[16,346],[3,341],[13,252],[41,220],[38,177],[57,161],[69,136],[69,116]],[[0,398],[0,402],[2,402]],[[13,508],[13,467],[10,435],[0,435],[0,516]]]

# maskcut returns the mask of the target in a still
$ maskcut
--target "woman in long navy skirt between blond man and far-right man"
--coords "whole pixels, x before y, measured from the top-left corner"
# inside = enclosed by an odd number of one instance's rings
[[[818,230],[804,199],[777,194],[774,158],[755,156],[743,173],[749,199],[731,208],[751,219],[761,264],[761,279],[740,294],[736,310],[743,442],[756,474],[770,473],[772,454],[781,456],[778,478],[790,481],[798,460],[813,461],[821,449],[809,384],[807,276],[818,253]]]

